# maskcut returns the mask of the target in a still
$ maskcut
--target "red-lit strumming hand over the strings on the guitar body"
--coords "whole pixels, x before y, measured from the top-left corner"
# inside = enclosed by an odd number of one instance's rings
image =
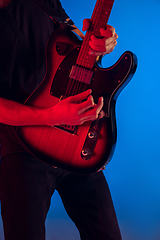
[[[81,125],[86,121],[103,117],[103,98],[95,104],[91,90],[79,93],[59,101],[55,106],[45,110],[47,125]]]

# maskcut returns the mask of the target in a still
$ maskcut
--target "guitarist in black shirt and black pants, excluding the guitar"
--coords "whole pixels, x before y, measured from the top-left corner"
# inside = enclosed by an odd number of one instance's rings
[[[69,20],[59,0],[44,1]],[[0,0],[0,8],[1,214],[5,240],[44,240],[45,219],[55,190],[82,240],[120,240],[103,171],[81,175],[53,168],[27,153],[6,128],[80,125],[98,117],[103,98],[95,104],[91,90],[87,90],[47,109],[23,105],[44,78],[46,44],[56,26],[34,0]],[[21,36],[9,21],[21,32],[28,59]],[[89,20],[84,20],[83,30],[89,24]],[[103,39],[91,37],[90,54],[113,51],[118,37],[115,29],[108,26],[101,29],[101,35]]]

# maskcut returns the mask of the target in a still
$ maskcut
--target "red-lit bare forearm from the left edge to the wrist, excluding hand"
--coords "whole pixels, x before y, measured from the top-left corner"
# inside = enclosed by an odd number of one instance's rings
[[[43,125],[43,109],[0,98],[0,122],[13,126]]]

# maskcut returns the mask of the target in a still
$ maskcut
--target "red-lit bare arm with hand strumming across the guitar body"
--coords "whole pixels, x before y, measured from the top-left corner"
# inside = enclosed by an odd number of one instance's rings
[[[70,96],[49,108],[38,108],[0,98],[0,123],[25,125],[81,125],[100,116],[103,98],[94,103],[91,90]]]

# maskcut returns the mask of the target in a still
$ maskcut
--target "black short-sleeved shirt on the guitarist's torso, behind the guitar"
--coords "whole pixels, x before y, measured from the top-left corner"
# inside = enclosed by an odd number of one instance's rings
[[[60,16],[68,17],[59,0],[44,1]],[[24,37],[33,68],[27,64],[14,30],[0,15],[0,96],[23,103],[45,75],[45,49],[54,24],[34,0],[12,0],[7,10]]]

